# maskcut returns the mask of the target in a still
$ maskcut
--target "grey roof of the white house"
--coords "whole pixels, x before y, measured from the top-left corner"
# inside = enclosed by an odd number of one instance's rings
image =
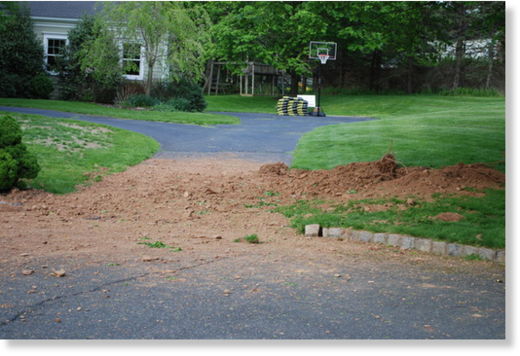
[[[99,11],[99,1],[22,1],[33,17],[79,19]]]

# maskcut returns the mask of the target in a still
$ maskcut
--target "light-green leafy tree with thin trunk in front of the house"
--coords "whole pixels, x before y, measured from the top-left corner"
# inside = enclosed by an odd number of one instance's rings
[[[155,66],[161,61],[177,79],[202,77],[210,37],[209,18],[201,6],[175,1],[108,2],[102,16],[119,40],[143,45],[146,94],[150,94]]]

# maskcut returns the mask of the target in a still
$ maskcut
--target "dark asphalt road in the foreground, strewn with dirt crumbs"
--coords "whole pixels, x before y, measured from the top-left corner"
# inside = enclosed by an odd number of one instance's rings
[[[4,270],[0,339],[505,338],[500,273],[256,251],[108,262],[32,260],[31,276]],[[65,277],[48,276],[57,265]]]

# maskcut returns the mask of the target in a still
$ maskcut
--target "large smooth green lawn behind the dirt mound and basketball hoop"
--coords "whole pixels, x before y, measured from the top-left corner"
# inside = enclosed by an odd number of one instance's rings
[[[211,110],[275,112],[274,98],[211,96]],[[439,95],[325,95],[328,115],[378,120],[317,128],[293,152],[292,166],[329,169],[387,152],[407,166],[483,162],[504,170],[505,99]],[[288,119],[290,120],[290,119]]]

